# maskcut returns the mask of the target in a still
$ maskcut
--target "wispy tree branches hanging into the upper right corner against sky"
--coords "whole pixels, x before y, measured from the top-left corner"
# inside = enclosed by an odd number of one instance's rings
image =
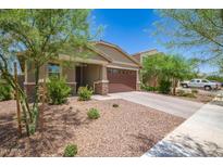
[[[223,61],[223,10],[157,12],[161,16],[156,23],[157,35],[166,47],[198,53],[202,62]]]

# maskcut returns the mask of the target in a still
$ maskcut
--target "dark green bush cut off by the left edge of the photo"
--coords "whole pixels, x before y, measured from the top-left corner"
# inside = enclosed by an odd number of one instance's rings
[[[12,99],[12,88],[1,82],[0,84],[0,101],[8,101]]]

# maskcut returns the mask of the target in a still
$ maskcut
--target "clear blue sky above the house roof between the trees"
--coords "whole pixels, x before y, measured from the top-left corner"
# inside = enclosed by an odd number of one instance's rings
[[[104,26],[100,39],[120,46],[129,54],[151,49],[168,52],[151,35],[156,30],[153,22],[160,20],[153,10],[94,10],[91,15],[95,27]],[[200,70],[209,73],[214,68],[202,65]]]

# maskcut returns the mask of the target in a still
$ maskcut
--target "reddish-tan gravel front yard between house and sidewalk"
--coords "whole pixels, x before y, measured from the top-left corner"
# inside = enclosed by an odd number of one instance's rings
[[[87,117],[91,107],[100,112],[98,119]],[[17,139],[15,102],[0,102],[0,156],[63,156],[70,143],[77,144],[77,156],[141,156],[183,121],[124,100],[71,98],[47,107],[44,133]]]

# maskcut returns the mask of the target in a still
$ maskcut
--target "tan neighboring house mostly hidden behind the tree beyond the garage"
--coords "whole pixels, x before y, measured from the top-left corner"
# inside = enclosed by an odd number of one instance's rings
[[[159,52],[157,49],[153,50],[148,50],[148,51],[144,51],[144,52],[138,52],[133,54],[132,56],[137,60],[139,63],[143,64],[144,62],[144,57],[148,57],[148,56],[154,56],[154,55],[159,55],[159,54],[163,54],[162,52]],[[157,77],[151,77],[149,80],[144,80],[143,76],[140,76],[140,80],[146,84],[147,86],[150,87],[158,87],[159,86],[159,80]]]

